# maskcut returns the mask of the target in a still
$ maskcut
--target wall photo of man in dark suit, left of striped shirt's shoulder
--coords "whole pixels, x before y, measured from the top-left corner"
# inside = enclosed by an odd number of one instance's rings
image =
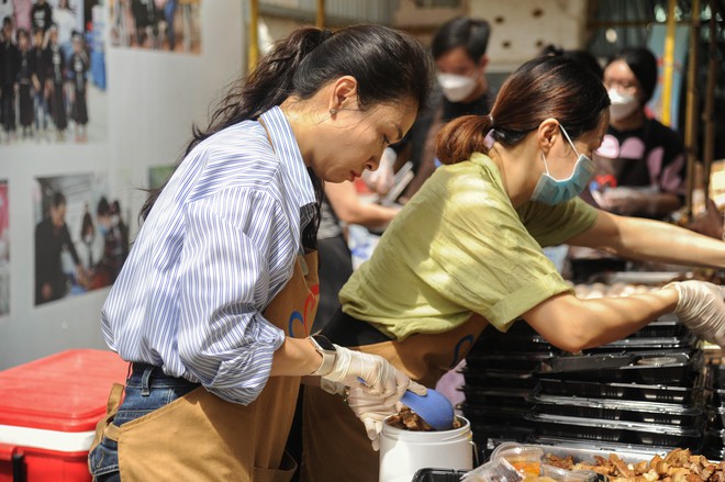
[[[129,227],[102,173],[36,179],[35,304],[113,284]]]

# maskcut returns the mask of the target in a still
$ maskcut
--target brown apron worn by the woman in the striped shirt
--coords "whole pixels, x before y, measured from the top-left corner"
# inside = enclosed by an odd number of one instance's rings
[[[319,298],[314,251],[298,257],[292,278],[264,316],[288,337],[305,337]],[[123,481],[287,482],[297,469],[285,445],[299,388],[300,377],[270,377],[248,405],[199,388],[121,427],[105,425],[119,406],[110,401],[110,415],[99,423],[97,438],[100,430],[118,439]],[[118,390],[114,396],[120,399]]]

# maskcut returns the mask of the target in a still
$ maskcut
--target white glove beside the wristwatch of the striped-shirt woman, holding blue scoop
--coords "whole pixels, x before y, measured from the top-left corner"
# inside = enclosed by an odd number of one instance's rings
[[[410,379],[378,355],[362,354],[335,345],[337,355],[332,371],[322,378],[349,388],[359,386],[372,395],[395,403],[403,396]],[[388,402],[392,400],[392,402]]]

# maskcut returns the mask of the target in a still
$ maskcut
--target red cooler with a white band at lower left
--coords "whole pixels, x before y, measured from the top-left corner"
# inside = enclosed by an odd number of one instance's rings
[[[0,482],[90,481],[88,449],[129,363],[74,349],[0,371]]]

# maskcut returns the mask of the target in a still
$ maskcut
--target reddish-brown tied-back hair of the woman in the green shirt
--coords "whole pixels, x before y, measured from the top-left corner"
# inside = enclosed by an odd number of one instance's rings
[[[488,153],[486,136],[514,146],[554,117],[571,138],[596,127],[610,98],[601,80],[570,58],[543,56],[518,67],[501,86],[490,115],[466,115],[446,124],[436,138],[443,164]]]

